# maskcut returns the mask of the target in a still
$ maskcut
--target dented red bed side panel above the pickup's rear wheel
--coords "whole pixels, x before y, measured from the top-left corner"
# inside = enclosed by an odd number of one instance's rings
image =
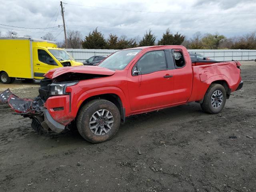
[[[188,102],[202,100],[208,87],[214,81],[224,80],[228,84],[228,88],[233,92],[241,80],[240,69],[236,67],[236,62],[192,66],[192,70],[194,74],[193,87]]]

